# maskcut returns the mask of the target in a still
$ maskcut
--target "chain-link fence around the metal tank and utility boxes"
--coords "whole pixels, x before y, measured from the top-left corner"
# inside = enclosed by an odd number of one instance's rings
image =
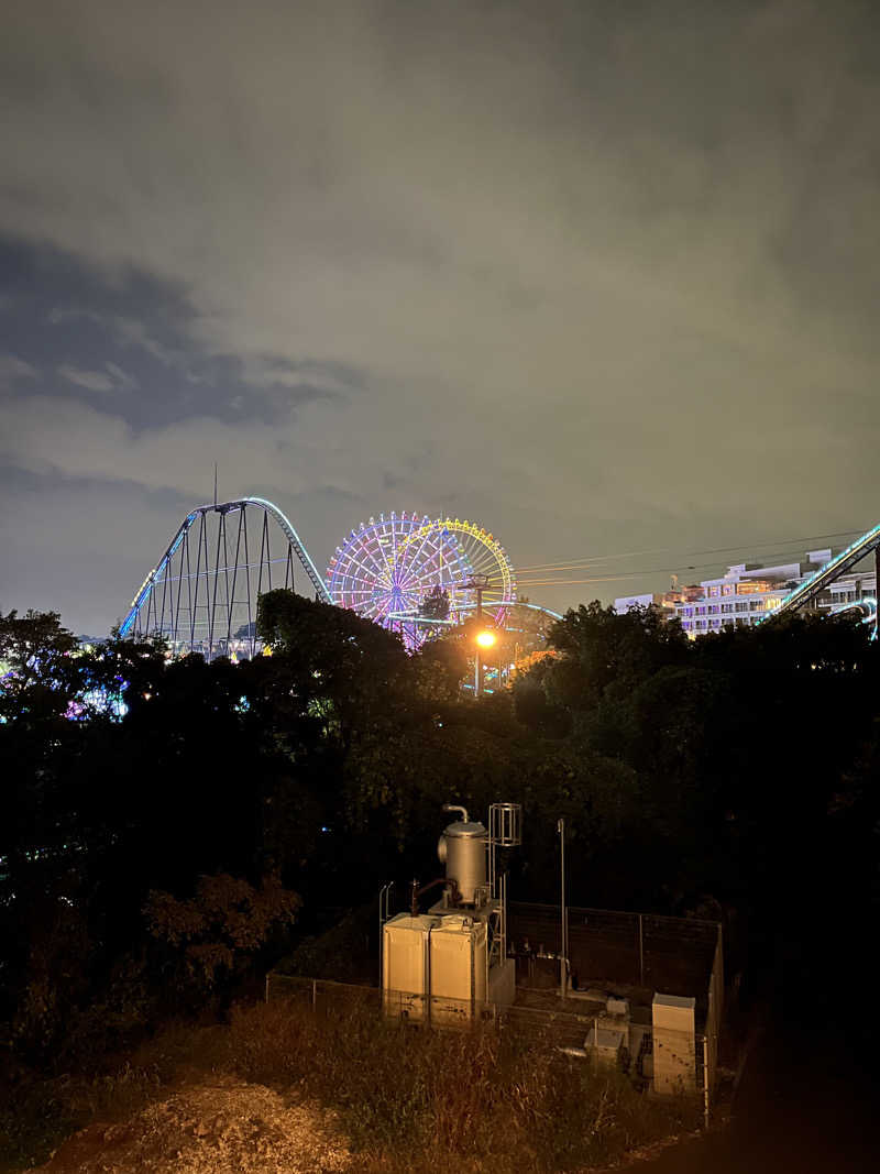
[[[397,1020],[472,1028],[489,1024],[544,1040],[573,1057],[615,1062],[637,1084],[698,1093],[706,1122],[718,1079],[724,956],[717,922],[569,906],[569,998],[559,999],[562,924],[559,905],[513,902],[508,954],[516,964],[516,1004],[474,1004],[375,986],[272,972],[266,1001],[284,999],[318,1016],[354,1011]],[[609,1021],[605,997],[629,1001],[625,1033]],[[655,1026],[655,993],[693,999],[692,1028]],[[662,1070],[662,1072],[661,1072]]]

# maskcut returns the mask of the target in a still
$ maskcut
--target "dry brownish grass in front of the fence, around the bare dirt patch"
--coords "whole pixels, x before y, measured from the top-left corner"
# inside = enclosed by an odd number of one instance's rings
[[[272,1003],[236,1007],[219,1027],[171,1027],[100,1072],[20,1084],[0,1109],[0,1172],[45,1161],[74,1129],[123,1120],[207,1073],[334,1108],[364,1174],[583,1170],[689,1132],[699,1115],[692,1101],[651,1099],[546,1037]]]

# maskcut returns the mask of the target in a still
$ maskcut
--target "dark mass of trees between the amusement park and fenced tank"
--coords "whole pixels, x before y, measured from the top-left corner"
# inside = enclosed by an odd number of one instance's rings
[[[523,804],[513,885],[532,899],[556,892],[559,816],[578,904],[771,926],[880,897],[864,626],[688,641],[651,610],[593,603],[509,693],[475,702],[461,640],[408,656],[283,591],[258,623],[271,655],[205,664],[153,641],[83,650],[57,615],[0,615],[7,1059],[62,1065],[222,1005],[379,884],[435,875],[445,801],[478,817]]]

